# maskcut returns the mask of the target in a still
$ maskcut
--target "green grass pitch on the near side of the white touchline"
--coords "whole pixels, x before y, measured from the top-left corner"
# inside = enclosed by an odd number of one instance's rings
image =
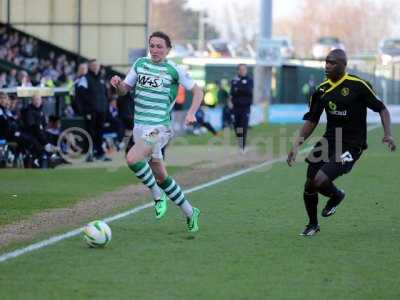
[[[105,249],[76,237],[1,263],[0,299],[399,299],[400,155],[381,136],[337,180],[347,197],[315,237],[298,236],[299,158],[188,195],[198,234],[170,203],[161,221],[147,209],[111,223]]]

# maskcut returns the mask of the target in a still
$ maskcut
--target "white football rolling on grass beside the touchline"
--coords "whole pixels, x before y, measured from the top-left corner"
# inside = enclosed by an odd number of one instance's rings
[[[90,247],[105,247],[111,241],[111,229],[106,222],[96,220],[85,226],[83,236]]]

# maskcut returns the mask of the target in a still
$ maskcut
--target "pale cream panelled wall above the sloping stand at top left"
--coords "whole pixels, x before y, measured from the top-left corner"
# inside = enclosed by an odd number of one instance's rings
[[[10,12],[16,28],[103,64],[127,64],[129,50],[146,45],[147,0],[10,0]]]

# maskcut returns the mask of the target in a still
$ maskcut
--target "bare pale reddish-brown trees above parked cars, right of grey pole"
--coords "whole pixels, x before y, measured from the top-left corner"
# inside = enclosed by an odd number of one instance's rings
[[[295,16],[276,20],[274,32],[292,37],[303,56],[321,36],[338,37],[350,55],[374,51],[382,38],[392,34],[398,8],[394,0],[304,0]]]

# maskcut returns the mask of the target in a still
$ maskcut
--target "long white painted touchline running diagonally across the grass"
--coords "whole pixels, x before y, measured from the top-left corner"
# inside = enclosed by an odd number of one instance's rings
[[[368,127],[368,131],[374,130],[374,129],[378,128],[378,127],[380,127],[379,124],[371,125],[371,126]],[[302,154],[302,153],[304,153],[304,152],[307,152],[307,151],[309,151],[309,150],[311,150],[311,149],[312,149],[312,147],[307,147],[307,148],[301,150],[301,151],[299,152],[299,154]],[[249,168],[244,169],[244,170],[236,171],[236,172],[233,172],[233,173],[231,173],[231,174],[229,174],[229,175],[224,175],[224,176],[222,176],[222,177],[220,177],[220,178],[218,178],[218,179],[211,180],[211,181],[209,181],[209,182],[200,184],[200,185],[198,185],[198,186],[192,187],[192,188],[190,188],[190,189],[188,189],[188,190],[185,190],[185,191],[183,191],[183,192],[184,192],[185,194],[190,194],[190,193],[193,193],[193,192],[202,190],[202,189],[204,189],[204,188],[210,187],[210,186],[212,186],[212,185],[218,184],[218,183],[220,183],[220,182],[224,182],[224,181],[227,181],[227,180],[229,180],[229,179],[232,179],[232,178],[241,176],[241,175],[243,175],[243,174],[246,174],[246,173],[255,171],[255,170],[257,170],[257,169],[260,169],[260,168],[263,168],[263,167],[272,165],[272,164],[274,164],[274,163],[283,162],[283,161],[285,161],[285,160],[286,160],[286,157],[280,157],[280,158],[276,158],[276,159],[264,161],[263,163],[261,163],[261,164],[259,164],[259,165],[256,165],[256,166],[253,166],[253,167],[249,167]],[[120,214],[117,214],[117,215],[114,215],[114,216],[105,218],[104,221],[107,222],[107,223],[110,223],[110,222],[113,222],[113,221],[116,221],[116,220],[125,218],[125,217],[127,217],[127,216],[129,216],[129,215],[138,213],[138,212],[140,212],[140,211],[142,211],[142,210],[144,210],[144,209],[146,209],[146,208],[152,207],[152,206],[153,206],[153,203],[150,202],[150,203],[147,203],[147,204],[144,204],[144,205],[135,207],[135,208],[133,208],[133,209],[127,210],[127,211],[125,211],[125,212],[122,212],[122,213],[120,213]],[[4,253],[4,254],[0,255],[0,263],[1,263],[1,262],[4,262],[4,261],[6,261],[6,260],[9,260],[9,259],[11,259],[11,258],[15,258],[15,257],[18,257],[18,256],[20,256],[20,255],[23,255],[23,254],[32,252],[32,251],[34,251],[34,250],[38,250],[38,249],[41,249],[41,248],[44,248],[44,247],[53,245],[53,244],[58,243],[58,242],[60,242],[60,241],[62,241],[62,240],[65,240],[65,239],[67,239],[67,238],[77,236],[78,234],[80,234],[80,233],[83,231],[83,229],[84,229],[84,227],[77,228],[77,229],[68,231],[68,232],[66,232],[66,233],[64,233],[64,234],[56,235],[56,236],[53,236],[53,237],[48,238],[48,239],[46,239],[46,240],[43,240],[43,241],[40,241],[40,242],[31,244],[31,245],[29,245],[29,246],[27,246],[27,247],[14,250],[14,251],[12,251],[12,252]]]

